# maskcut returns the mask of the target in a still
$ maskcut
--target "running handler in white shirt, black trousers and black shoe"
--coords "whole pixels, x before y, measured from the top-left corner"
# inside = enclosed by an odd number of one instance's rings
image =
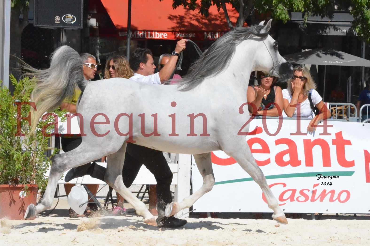
[[[130,67],[134,71],[134,76],[130,79],[149,84],[162,84],[166,82],[170,79],[172,72],[174,72],[178,56],[185,49],[185,44],[186,39],[181,39],[177,42],[176,48],[172,52],[172,56],[169,58],[166,66],[158,73],[154,73],[155,65],[150,49],[137,48],[129,60]],[[185,219],[178,219],[174,216],[167,218],[164,214],[166,205],[172,202],[170,186],[173,174],[171,169],[169,169],[163,153],[159,150],[128,143],[124,164],[127,170],[122,173],[124,180],[129,180],[130,177],[136,177],[135,174],[138,173],[142,164],[151,171],[155,180],[157,180],[158,226],[178,228],[185,225]]]

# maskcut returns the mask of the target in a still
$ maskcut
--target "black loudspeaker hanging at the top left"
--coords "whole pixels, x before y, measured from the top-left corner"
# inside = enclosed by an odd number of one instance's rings
[[[34,0],[35,27],[82,29],[83,0]]]

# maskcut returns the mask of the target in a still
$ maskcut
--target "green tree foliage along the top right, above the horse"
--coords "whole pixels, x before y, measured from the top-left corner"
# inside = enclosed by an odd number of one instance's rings
[[[159,0],[162,1],[162,0]],[[370,42],[370,0],[172,0],[172,7],[184,6],[190,10],[199,9],[199,13],[208,16],[209,7],[216,6],[218,10],[222,8],[222,3],[229,3],[240,12],[240,3],[243,3],[243,20],[251,20],[257,24],[261,20],[253,20],[256,16],[271,14],[274,20],[282,20],[286,23],[290,17],[290,12],[302,12],[304,23],[312,15],[332,18],[334,11],[350,10],[353,16],[353,30],[365,41]],[[250,11],[248,6],[252,5]],[[239,13],[240,14],[240,13]],[[225,17],[226,18],[226,17]],[[263,17],[264,18],[264,17]],[[235,26],[235,23],[233,23]],[[240,25],[241,26],[241,25]]]

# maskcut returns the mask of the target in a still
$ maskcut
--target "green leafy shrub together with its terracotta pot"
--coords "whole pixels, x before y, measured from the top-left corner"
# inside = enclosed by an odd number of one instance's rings
[[[15,87],[14,96],[0,86],[0,218],[23,219],[27,206],[36,203],[37,192],[47,184],[45,171],[56,153],[54,150],[46,157],[55,117],[65,117],[63,112],[55,111],[38,122],[33,135],[27,136],[35,82],[28,77],[17,81],[12,75],[10,81]]]

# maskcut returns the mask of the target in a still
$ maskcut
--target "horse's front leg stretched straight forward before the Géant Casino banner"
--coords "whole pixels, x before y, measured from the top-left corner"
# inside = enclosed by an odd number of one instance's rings
[[[241,146],[236,148],[235,146]],[[253,158],[252,152],[246,145],[245,141],[241,141],[240,145],[232,145],[231,150],[225,150],[225,153],[232,156],[236,162],[252,177],[252,179],[261,187],[263,194],[266,197],[267,205],[274,211],[272,218],[281,224],[288,224],[284,212],[280,209],[279,203],[275,196],[272,194],[270,187],[266,182],[265,175],[257,165]]]

